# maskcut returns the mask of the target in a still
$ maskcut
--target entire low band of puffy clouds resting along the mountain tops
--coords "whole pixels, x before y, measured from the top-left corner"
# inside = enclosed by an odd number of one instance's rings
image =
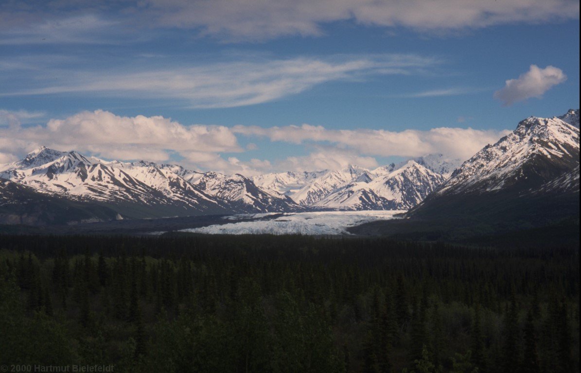
[[[0,111],[0,121],[12,115]],[[24,114],[23,114],[24,115]],[[4,118],[4,119],[3,119]],[[303,124],[263,128],[259,126],[182,125],[160,116],[122,117],[109,111],[83,111],[64,119],[51,119],[46,125],[0,126],[0,163],[45,145],[58,150],[78,150],[106,159],[149,160],[156,162],[181,158],[179,163],[201,170],[257,175],[272,171],[313,171],[345,168],[357,164],[378,166],[375,157],[417,157],[443,153],[468,158],[487,143],[496,142],[508,131],[463,128],[407,129],[327,129]],[[286,159],[242,161],[231,153],[246,150],[236,136],[267,138],[272,142],[297,145],[297,155]]]

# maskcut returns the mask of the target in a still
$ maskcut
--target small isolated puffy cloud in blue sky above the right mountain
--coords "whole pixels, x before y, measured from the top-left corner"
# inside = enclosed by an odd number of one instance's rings
[[[504,106],[510,106],[531,97],[540,98],[547,90],[566,79],[560,68],[554,66],[539,68],[530,65],[529,71],[521,74],[518,79],[508,79],[503,89],[494,92],[494,98],[501,100]]]

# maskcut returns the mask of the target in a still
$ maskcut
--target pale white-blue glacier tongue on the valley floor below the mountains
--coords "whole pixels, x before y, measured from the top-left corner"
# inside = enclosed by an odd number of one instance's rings
[[[182,231],[207,234],[308,234],[331,235],[349,234],[348,227],[375,220],[398,219],[394,215],[403,210],[389,211],[323,211],[285,213],[277,218],[270,218],[273,213],[227,216],[225,219],[259,218],[252,222],[216,224],[207,227],[184,229]]]

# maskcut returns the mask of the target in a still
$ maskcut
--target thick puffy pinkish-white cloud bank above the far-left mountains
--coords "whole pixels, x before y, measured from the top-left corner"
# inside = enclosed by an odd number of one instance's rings
[[[0,128],[0,151],[26,153],[41,145],[104,158],[152,161],[166,161],[171,152],[189,157],[241,151],[236,136],[224,126],[184,126],[159,116],[120,117],[102,110],[51,119],[46,126]]]

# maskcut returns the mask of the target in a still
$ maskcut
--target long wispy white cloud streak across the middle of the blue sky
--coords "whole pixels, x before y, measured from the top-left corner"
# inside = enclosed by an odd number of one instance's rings
[[[236,107],[270,102],[330,81],[371,75],[411,74],[440,63],[417,55],[296,57],[286,60],[240,60],[160,70],[41,71],[27,74],[26,86],[0,88],[0,96],[53,93],[107,93],[134,97],[182,99],[198,108]],[[35,74],[39,74],[38,76]],[[46,79],[50,76],[51,79]]]

